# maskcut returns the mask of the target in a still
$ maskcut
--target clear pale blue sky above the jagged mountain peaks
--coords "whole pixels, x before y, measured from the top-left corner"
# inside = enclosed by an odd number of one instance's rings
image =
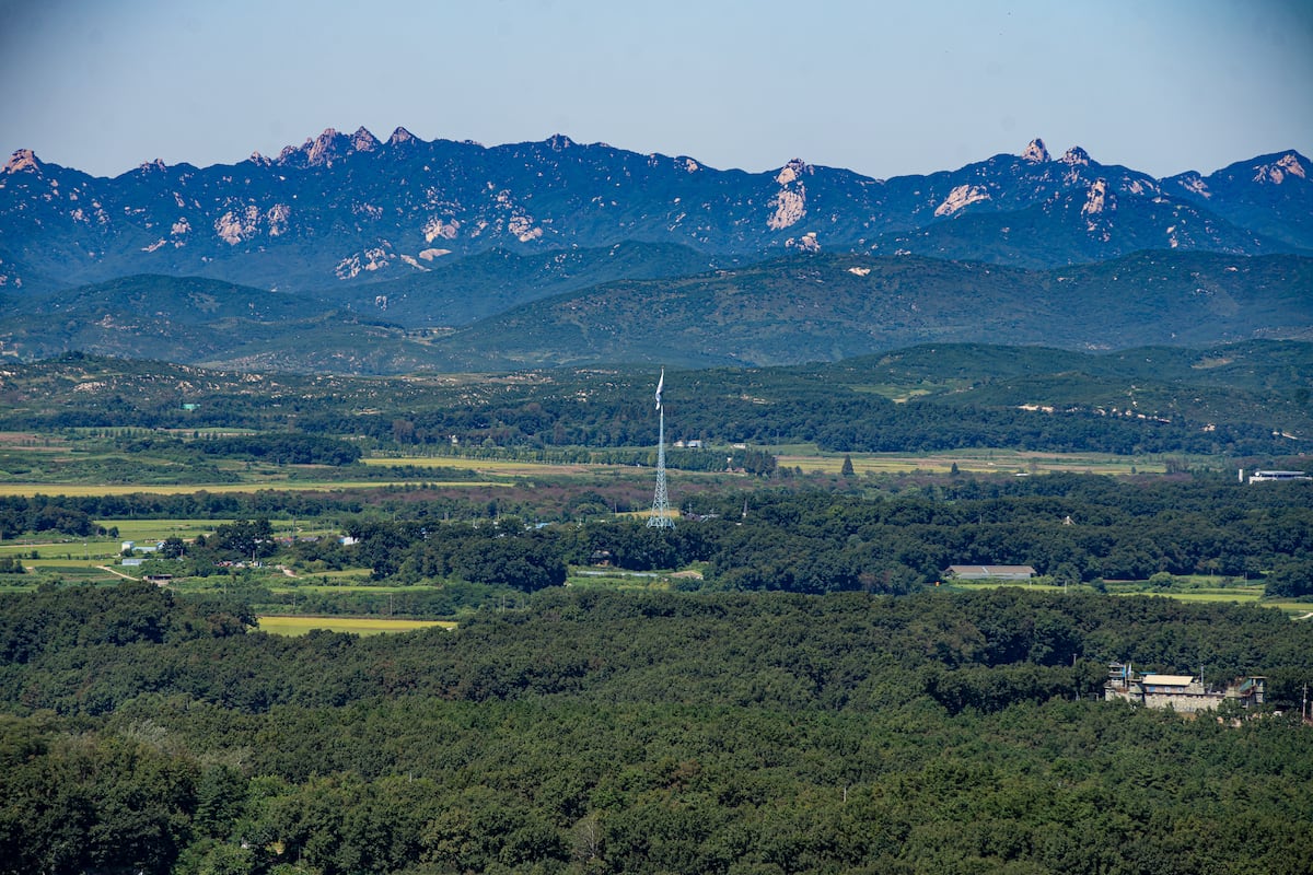
[[[326,127],[764,171],[1035,136],[1154,176],[1313,155],[1313,0],[0,0],[0,148],[117,176]]]

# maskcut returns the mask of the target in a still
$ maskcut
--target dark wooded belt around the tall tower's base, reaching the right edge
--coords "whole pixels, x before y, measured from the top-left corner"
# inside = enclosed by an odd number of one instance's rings
[[[1297,596],[1309,592],[1313,567],[1308,484],[1255,489],[1048,475],[949,480],[874,497],[764,489],[697,496],[685,510],[699,519],[674,531],[642,521],[525,531],[513,518],[471,526],[433,516],[361,517],[348,529],[361,542],[358,561],[376,579],[412,582],[448,576],[498,582],[474,563],[452,559],[490,550],[507,552],[508,563],[509,554],[524,554],[633,571],[701,561],[710,588],[800,593],[906,593],[939,580],[951,564],[1029,564],[1070,582],[1155,573],[1259,580],[1271,572],[1271,594]],[[521,588],[538,589],[542,580],[530,576]],[[515,576],[504,582],[516,585]]]

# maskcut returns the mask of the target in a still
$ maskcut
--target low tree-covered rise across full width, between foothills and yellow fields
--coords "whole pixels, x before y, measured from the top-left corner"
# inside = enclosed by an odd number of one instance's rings
[[[941,345],[834,365],[671,371],[668,425],[672,441],[831,451],[1291,455],[1313,434],[1310,350]],[[453,437],[466,447],[633,447],[653,443],[651,382],[634,367],[352,379],[67,357],[0,374],[0,428],[295,429],[433,451],[450,450]]]

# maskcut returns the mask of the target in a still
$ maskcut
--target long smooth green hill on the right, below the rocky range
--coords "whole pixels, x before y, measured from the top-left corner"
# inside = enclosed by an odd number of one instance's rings
[[[1313,258],[1138,252],[1024,270],[818,254],[524,304],[435,342],[444,370],[834,362],[918,344],[1107,350],[1308,338]]]

